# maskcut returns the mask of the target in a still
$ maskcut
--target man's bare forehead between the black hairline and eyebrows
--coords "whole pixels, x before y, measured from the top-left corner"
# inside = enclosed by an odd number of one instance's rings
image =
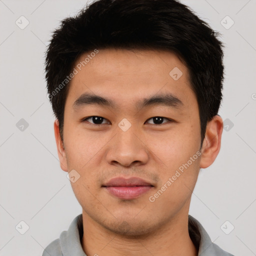
[[[84,92],[104,95],[119,105],[158,92],[170,92],[186,104],[195,99],[188,70],[172,52],[112,48],[92,52],[81,54],[75,62],[77,73],[67,96],[72,103]]]

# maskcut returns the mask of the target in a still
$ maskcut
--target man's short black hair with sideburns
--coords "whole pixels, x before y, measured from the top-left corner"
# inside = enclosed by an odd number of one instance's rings
[[[61,139],[68,74],[82,53],[105,48],[156,49],[177,54],[188,68],[199,108],[202,145],[207,122],[217,115],[222,99],[219,35],[177,0],[96,0],[74,17],[63,19],[45,53],[48,98]]]

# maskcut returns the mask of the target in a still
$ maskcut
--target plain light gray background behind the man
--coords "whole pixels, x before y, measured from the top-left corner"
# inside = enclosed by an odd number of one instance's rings
[[[225,80],[219,114],[233,123],[223,130],[215,162],[200,171],[190,214],[223,249],[256,255],[256,1],[182,2],[222,33]],[[59,20],[85,3],[0,0],[0,255],[41,255],[81,213],[59,167],[43,56]],[[15,24],[21,15],[29,21],[24,29]],[[220,23],[226,15],[234,21],[229,29]],[[29,124],[23,131],[16,127],[21,118]],[[23,235],[15,229],[21,220],[29,226]],[[220,228],[226,220],[226,229],[234,226],[229,234]]]

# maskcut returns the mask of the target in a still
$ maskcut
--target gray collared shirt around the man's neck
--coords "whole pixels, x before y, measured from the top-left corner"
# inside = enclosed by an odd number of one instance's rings
[[[188,230],[191,240],[199,249],[198,256],[233,256],[211,242],[199,221],[190,215],[188,215]],[[42,256],[86,256],[80,242],[82,235],[82,214],[79,214],[73,219],[68,230],[62,231],[59,238],[44,249]]]

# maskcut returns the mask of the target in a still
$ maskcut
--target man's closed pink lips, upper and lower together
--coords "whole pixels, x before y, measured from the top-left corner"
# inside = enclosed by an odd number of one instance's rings
[[[102,185],[110,194],[131,200],[152,189],[153,185],[139,177],[115,177]]]

